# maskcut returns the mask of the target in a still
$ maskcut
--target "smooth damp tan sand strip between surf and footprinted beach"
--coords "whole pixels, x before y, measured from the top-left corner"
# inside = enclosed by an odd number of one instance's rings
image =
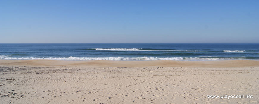
[[[78,66],[78,67],[258,67],[257,60],[216,61],[114,61],[114,60],[0,60],[2,66]]]

